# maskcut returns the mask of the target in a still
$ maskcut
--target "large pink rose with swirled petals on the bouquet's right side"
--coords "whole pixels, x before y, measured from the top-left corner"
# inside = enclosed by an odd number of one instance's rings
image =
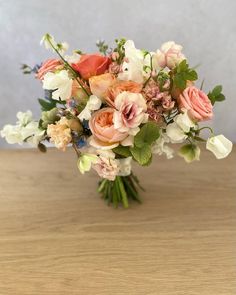
[[[196,121],[209,120],[213,116],[212,104],[208,96],[195,86],[187,87],[179,96],[180,109],[188,111]]]

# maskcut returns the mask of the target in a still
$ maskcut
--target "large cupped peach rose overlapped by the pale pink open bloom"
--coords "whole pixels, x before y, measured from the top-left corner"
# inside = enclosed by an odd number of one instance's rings
[[[89,120],[89,128],[92,132],[90,145],[100,149],[112,149],[119,145],[128,134],[114,128],[113,108],[103,108],[93,114]]]

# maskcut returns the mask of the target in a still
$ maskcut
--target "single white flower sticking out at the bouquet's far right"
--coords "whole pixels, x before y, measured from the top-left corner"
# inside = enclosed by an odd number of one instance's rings
[[[217,159],[223,159],[232,151],[233,144],[221,134],[208,138],[206,148],[211,151]]]

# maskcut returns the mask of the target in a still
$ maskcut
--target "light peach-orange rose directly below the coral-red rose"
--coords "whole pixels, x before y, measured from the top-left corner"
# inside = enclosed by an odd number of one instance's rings
[[[115,81],[115,77],[112,74],[106,73],[91,77],[89,79],[89,86],[92,94],[100,99],[104,99],[107,90],[115,83]]]

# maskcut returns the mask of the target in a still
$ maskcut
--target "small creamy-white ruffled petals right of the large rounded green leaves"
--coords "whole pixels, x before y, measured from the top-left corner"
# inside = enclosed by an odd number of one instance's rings
[[[170,139],[169,137],[161,131],[159,138],[156,140],[156,142],[152,146],[152,153],[157,154],[159,156],[165,154],[167,159],[172,159],[174,150],[166,145],[166,143],[169,143]]]

